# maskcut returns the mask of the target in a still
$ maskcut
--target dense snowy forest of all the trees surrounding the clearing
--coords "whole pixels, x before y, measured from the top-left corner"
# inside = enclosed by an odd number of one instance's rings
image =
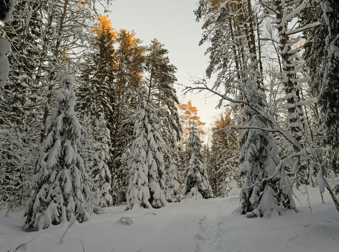
[[[195,78],[184,92],[220,97],[208,129],[179,103],[164,44],[114,28],[105,4],[17,0],[1,17],[0,208],[25,206],[40,229],[232,192],[256,217],[296,210],[293,185],[318,184],[339,211],[335,0],[198,2],[214,85]]]

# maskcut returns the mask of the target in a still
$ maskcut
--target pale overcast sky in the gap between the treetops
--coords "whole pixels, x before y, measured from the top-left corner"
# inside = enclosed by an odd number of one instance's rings
[[[204,56],[207,44],[198,46],[202,23],[195,21],[193,11],[197,0],[115,0],[112,2],[109,18],[117,29],[134,30],[136,37],[148,45],[157,38],[165,44],[171,63],[178,68],[178,83],[191,85],[190,76],[204,77],[208,57]],[[204,98],[202,93],[182,96],[177,88],[179,100],[192,100],[198,108],[202,122],[208,123],[215,109],[217,98]],[[207,95],[208,96],[208,95]]]

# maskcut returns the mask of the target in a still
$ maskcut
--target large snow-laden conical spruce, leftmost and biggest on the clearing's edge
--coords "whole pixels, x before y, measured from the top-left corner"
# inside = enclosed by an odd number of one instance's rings
[[[47,137],[36,161],[32,192],[26,202],[25,226],[45,229],[62,221],[86,221],[86,198],[93,194],[78,149],[81,133],[74,112],[76,101],[71,71],[61,80],[52,115],[48,118]]]

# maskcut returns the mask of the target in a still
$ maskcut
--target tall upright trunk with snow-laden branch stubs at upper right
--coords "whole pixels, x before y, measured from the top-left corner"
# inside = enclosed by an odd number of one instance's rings
[[[282,84],[284,85],[285,90],[285,100],[287,102],[287,111],[288,111],[288,120],[290,124],[288,125],[291,129],[292,136],[305,148],[305,143],[307,140],[311,140],[305,132],[305,119],[304,112],[302,109],[302,101],[300,98],[301,92],[301,83],[308,82],[310,78],[299,77],[297,76],[298,70],[303,68],[303,60],[298,60],[298,52],[300,48],[296,46],[301,38],[297,36],[293,38],[292,34],[296,33],[299,29],[288,30],[287,23],[290,19],[300,12],[305,6],[306,1],[303,1],[299,6],[297,6],[293,11],[287,10],[289,4],[284,1],[273,1],[274,7],[273,10],[276,12],[276,20],[273,21],[273,26],[277,28],[279,32],[280,44],[278,45],[278,55],[281,55],[282,61]],[[295,46],[295,49],[292,49],[292,46]],[[298,152],[298,148],[295,148],[295,152]],[[301,161],[299,157],[296,157],[296,174],[297,182],[302,184],[309,184],[309,169],[305,161]]]

